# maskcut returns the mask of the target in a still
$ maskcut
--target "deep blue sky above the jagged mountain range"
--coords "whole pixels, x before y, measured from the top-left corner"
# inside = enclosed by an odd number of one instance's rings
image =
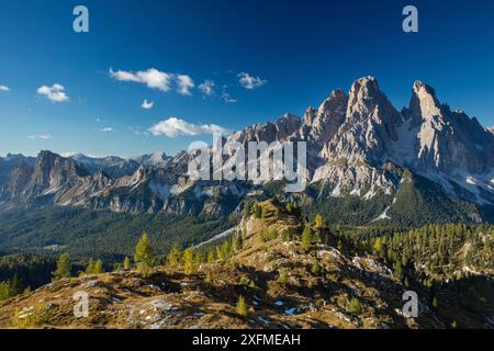
[[[77,4],[90,33],[72,31]],[[419,33],[402,31],[406,4]],[[2,1],[0,155],[175,154],[217,127],[302,115],[367,75],[397,109],[420,79],[493,125],[493,13],[482,0]]]

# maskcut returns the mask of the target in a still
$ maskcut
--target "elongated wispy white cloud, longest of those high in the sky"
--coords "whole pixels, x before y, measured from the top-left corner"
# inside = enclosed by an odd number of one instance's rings
[[[146,84],[147,88],[158,89],[162,92],[168,92],[175,87],[177,92],[182,95],[191,95],[191,90],[194,88],[194,81],[187,75],[168,73],[149,68],[139,71],[113,70],[110,68],[109,75],[111,78],[119,81],[131,81]]]

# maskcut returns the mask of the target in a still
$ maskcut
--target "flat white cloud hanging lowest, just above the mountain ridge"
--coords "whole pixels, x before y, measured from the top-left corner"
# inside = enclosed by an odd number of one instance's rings
[[[175,138],[181,135],[203,135],[214,133],[227,133],[228,129],[216,124],[193,124],[177,117],[170,117],[161,121],[149,128],[154,136],[166,135]]]

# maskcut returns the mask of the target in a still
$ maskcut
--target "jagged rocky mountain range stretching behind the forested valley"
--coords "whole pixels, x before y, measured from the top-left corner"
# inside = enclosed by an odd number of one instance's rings
[[[308,214],[347,223],[492,223],[493,133],[440,103],[426,83],[416,81],[409,105],[398,111],[378,80],[364,77],[302,117],[285,114],[226,137],[245,146],[306,141],[308,186],[302,193],[284,193],[276,181],[192,180],[186,151],[130,159],[41,151],[0,158],[0,208],[229,215],[251,197],[291,197]]]

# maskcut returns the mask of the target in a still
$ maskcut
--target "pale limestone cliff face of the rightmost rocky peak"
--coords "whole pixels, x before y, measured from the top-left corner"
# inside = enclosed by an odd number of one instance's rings
[[[416,126],[414,167],[430,172],[490,173],[494,167],[492,135],[462,111],[441,105],[433,88],[415,82],[409,109],[404,114]]]

